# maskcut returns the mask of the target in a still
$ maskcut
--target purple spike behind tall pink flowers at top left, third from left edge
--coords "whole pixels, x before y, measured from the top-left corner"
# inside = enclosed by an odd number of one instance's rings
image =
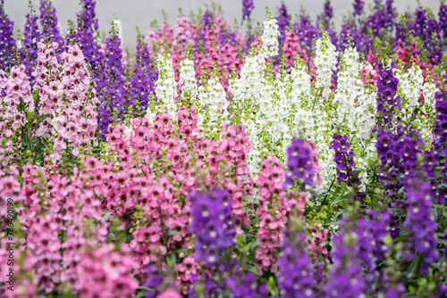
[[[48,38],[49,41],[57,43],[59,46],[55,49],[57,59],[60,60],[64,42],[61,35],[55,7],[50,0],[40,1],[40,25],[42,26],[42,37]]]

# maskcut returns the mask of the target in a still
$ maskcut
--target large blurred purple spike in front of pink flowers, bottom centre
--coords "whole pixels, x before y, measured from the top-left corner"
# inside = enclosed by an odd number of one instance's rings
[[[208,267],[216,265],[221,253],[235,244],[231,196],[227,190],[215,188],[213,193],[195,192],[189,197],[195,259]]]

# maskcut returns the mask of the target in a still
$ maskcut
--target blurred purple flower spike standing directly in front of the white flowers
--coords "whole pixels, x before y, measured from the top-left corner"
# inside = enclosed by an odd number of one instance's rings
[[[287,148],[287,172],[284,187],[291,186],[295,178],[301,179],[308,186],[314,185],[314,163],[312,148],[301,138],[291,142]]]

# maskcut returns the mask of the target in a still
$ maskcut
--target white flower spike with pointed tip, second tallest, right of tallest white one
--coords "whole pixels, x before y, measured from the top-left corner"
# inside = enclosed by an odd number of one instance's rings
[[[322,37],[316,40],[316,88],[322,89],[323,98],[331,94],[331,84],[333,70],[337,63],[335,46],[331,43],[326,31],[322,32]]]

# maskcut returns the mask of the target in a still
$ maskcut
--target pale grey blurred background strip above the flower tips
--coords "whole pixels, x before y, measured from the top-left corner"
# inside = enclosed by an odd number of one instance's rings
[[[365,2],[367,5],[374,3],[373,0]],[[32,3],[38,12],[40,2],[33,0]],[[164,11],[167,21],[175,27],[175,21],[180,14],[179,8],[183,14],[188,16],[191,10],[197,12],[199,7],[210,7],[211,3],[212,1],[207,0],[97,0],[96,12],[100,31],[108,32],[110,30],[110,22],[114,20],[114,16],[120,19],[124,45],[133,47],[136,44],[136,26],[139,26],[142,33],[146,33],[154,19],[159,24],[163,23]],[[221,5],[225,19],[232,21],[237,18],[237,23],[240,25],[242,0],[215,0],[214,3]],[[333,23],[338,29],[342,23],[343,15],[352,12],[353,0],[332,0],[331,3],[333,5]],[[68,28],[67,21],[76,21],[76,13],[80,12],[80,1],[53,0],[53,4],[65,34]],[[312,20],[315,20],[316,15],[323,12],[325,0],[254,0],[254,4],[255,10],[251,13],[251,18],[254,21],[264,21],[266,6],[269,6],[276,15],[281,4],[286,4],[288,12],[293,16],[292,21],[298,18],[296,14],[299,14],[301,8],[310,14]],[[440,1],[421,0],[419,4],[429,7],[437,15]],[[30,11],[28,5],[29,0],[4,0],[4,10],[14,21],[14,32],[17,29],[23,30],[25,27],[26,15]],[[398,12],[405,12],[408,8],[414,9],[417,6],[417,1],[394,0],[394,6],[397,7]]]

